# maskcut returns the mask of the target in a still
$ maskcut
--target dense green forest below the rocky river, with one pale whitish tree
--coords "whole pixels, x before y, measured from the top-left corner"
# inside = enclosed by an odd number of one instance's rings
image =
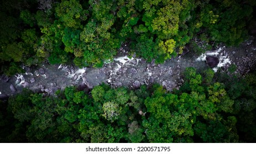
[[[173,92],[156,84],[73,86],[49,97],[24,89],[0,103],[0,141],[255,142],[256,74],[230,72],[187,68]]]

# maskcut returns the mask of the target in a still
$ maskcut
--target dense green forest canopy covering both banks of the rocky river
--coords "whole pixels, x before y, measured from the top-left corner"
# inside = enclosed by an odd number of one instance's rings
[[[103,66],[122,50],[163,63],[255,29],[254,0],[9,0],[0,8],[0,74],[22,66]],[[256,73],[187,68],[184,84],[46,96],[24,89],[0,100],[0,142],[256,142]],[[1,86],[1,85],[0,85]]]

